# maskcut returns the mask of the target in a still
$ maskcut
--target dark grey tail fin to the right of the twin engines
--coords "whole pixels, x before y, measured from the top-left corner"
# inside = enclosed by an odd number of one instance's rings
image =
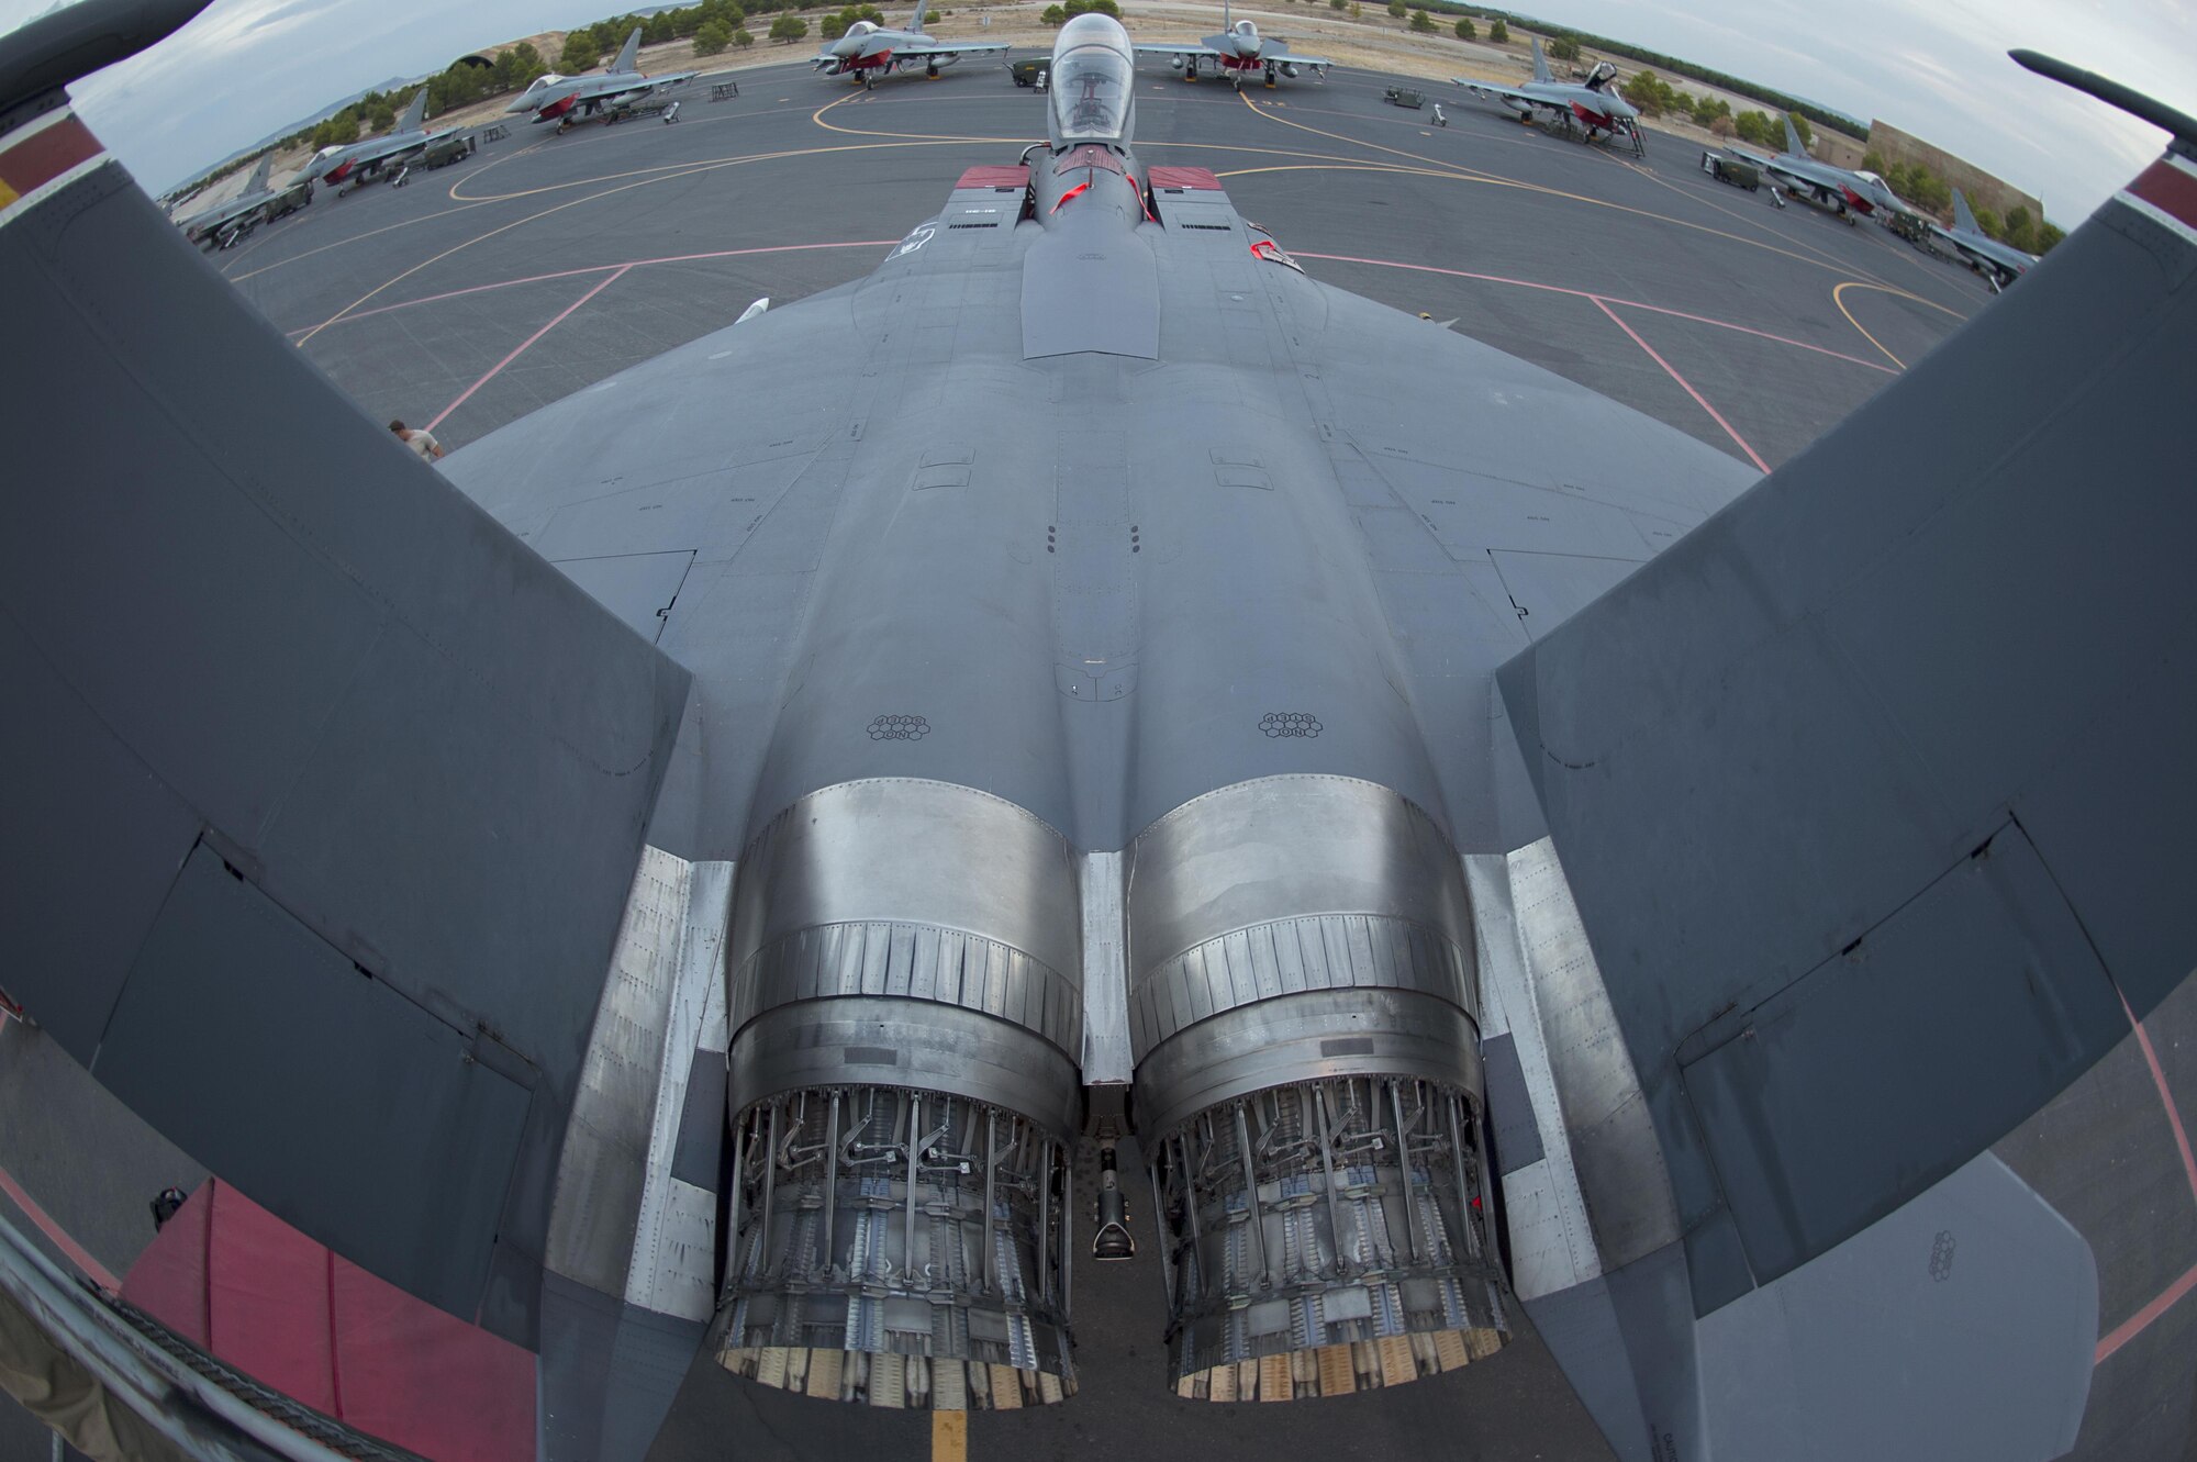
[[[1966,1163],[2197,968],[2166,893],[2197,882],[2184,167],[1498,674],[1700,1313]]]

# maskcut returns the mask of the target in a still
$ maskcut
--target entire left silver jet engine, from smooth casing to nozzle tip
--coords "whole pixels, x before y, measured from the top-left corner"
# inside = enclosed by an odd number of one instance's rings
[[[1068,841],[967,786],[872,779],[740,858],[718,1359],[808,1396],[1061,1401],[1081,1126]]]

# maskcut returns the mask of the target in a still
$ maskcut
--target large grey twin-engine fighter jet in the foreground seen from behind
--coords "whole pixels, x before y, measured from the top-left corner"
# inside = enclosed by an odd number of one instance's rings
[[[2017,53],[2168,154],[1755,479],[1305,274],[1083,15],[868,279],[444,476],[68,110],[193,9],[0,40],[7,992],[536,1352],[543,1455],[701,1346],[1066,1398],[1131,1133],[1180,1396],[1523,1308],[1628,1460],[2072,1444],[2092,1256],[1986,1148],[2197,966],[2197,121]],[[110,1405],[277,1427],[33,1258]]]

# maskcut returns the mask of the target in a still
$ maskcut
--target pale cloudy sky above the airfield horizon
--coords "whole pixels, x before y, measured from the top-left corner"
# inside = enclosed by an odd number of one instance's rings
[[[0,33],[48,9],[48,0],[0,0]],[[169,40],[70,90],[138,182],[165,191],[367,86],[617,9],[620,0],[213,0]],[[2197,114],[2193,0],[1505,0],[1503,9],[1883,119],[2037,193],[2065,228],[2155,158],[2164,134],[2032,77],[2006,59],[2008,46]]]

